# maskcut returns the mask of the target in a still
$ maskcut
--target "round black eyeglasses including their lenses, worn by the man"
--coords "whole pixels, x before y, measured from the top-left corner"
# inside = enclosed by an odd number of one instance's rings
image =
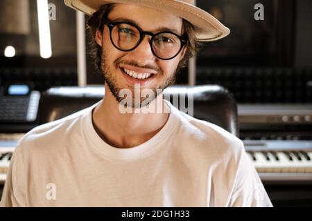
[[[186,37],[173,32],[144,32],[141,28],[128,22],[108,22],[104,24],[110,29],[110,40],[118,50],[128,52],[135,50],[146,35],[150,35],[150,48],[157,58],[170,60],[175,58],[187,44]]]

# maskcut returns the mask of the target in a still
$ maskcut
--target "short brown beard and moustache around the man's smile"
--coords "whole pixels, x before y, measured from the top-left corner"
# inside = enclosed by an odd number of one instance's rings
[[[132,108],[143,108],[144,106],[148,106],[150,103],[152,103],[159,96],[159,94],[161,94],[161,93],[159,93],[159,91],[163,92],[164,89],[166,89],[168,86],[171,86],[172,84],[175,83],[175,73],[173,73],[173,75],[169,75],[169,77],[166,77],[164,79],[164,81],[162,81],[162,83],[159,84],[158,86],[155,86],[153,88],[148,88],[152,92],[152,95],[149,94],[146,97],[141,97],[141,94],[140,94],[139,95],[139,97],[140,97],[139,101],[137,101],[137,99],[135,99],[135,86],[130,86],[130,88],[121,88],[121,86],[119,86],[117,83],[116,74],[114,75],[114,73],[112,73],[112,71],[110,70],[110,65],[107,63],[108,62],[106,59],[106,55],[105,55],[105,52],[103,51],[101,69],[103,72],[105,83],[110,88],[112,95],[114,95],[116,101],[119,104],[123,101],[123,99],[129,99],[128,97],[125,98],[125,97],[120,96],[121,90],[123,90],[123,89],[131,90],[131,92],[132,92]],[[116,69],[119,69],[120,64],[128,64],[130,66],[140,67],[139,65],[137,65],[135,63],[135,61],[123,62],[123,61],[121,61],[121,59],[117,59],[116,61],[114,61],[114,67]],[[157,70],[157,75],[164,76],[164,73],[159,68],[150,67],[150,66],[144,66],[141,68],[150,68],[150,69]]]

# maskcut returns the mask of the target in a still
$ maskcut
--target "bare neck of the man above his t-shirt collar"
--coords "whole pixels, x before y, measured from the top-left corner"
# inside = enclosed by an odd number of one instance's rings
[[[162,104],[164,113],[121,113],[119,103],[105,84],[103,102],[94,109],[94,127],[101,138],[116,148],[130,148],[143,144],[158,133],[168,120],[168,106],[162,95],[153,102]],[[134,110],[134,109],[133,109]]]

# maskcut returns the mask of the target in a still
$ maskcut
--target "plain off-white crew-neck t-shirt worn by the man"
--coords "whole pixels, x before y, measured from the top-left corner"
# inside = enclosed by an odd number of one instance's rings
[[[106,144],[92,110],[34,128],[12,157],[1,206],[272,206],[243,142],[169,102],[161,131]]]

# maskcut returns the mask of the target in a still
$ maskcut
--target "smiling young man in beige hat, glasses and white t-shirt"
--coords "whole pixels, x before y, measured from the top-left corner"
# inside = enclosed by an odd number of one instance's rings
[[[92,15],[105,97],[21,139],[1,206],[272,206],[241,140],[156,93],[225,26],[190,0],[65,3]],[[122,103],[136,88],[150,97]],[[162,113],[123,112],[154,104]]]

